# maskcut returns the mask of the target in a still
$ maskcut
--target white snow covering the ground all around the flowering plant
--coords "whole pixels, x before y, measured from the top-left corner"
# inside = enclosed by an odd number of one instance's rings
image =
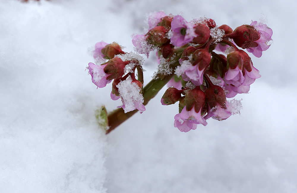
[[[295,1],[0,0],[0,192],[297,192]],[[108,136],[94,111],[120,105],[85,71],[99,41],[133,51],[146,14],[233,29],[267,16],[274,44],[241,115],[181,133],[160,97]],[[293,48],[293,50],[291,50]],[[157,68],[150,58],[148,82]]]

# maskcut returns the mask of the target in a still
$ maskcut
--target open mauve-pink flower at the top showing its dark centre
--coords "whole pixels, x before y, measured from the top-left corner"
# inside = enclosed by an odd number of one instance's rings
[[[187,22],[182,16],[176,15],[171,22],[173,35],[170,41],[175,46],[182,46],[192,42],[197,37],[194,29],[195,24]]]

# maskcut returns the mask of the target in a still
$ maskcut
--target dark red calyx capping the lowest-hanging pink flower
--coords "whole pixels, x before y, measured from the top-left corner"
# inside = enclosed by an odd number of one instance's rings
[[[200,89],[200,87],[195,87],[194,89],[187,90],[185,103],[187,111],[190,111],[194,106],[195,112],[199,112],[205,104],[205,93]]]

